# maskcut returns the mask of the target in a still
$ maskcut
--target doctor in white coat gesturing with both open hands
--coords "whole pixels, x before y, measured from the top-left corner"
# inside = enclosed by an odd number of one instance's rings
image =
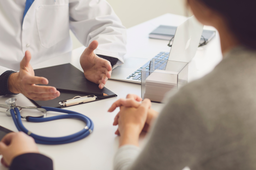
[[[60,96],[36,85],[48,80],[31,65],[70,52],[69,29],[88,46],[80,57],[85,77],[103,88],[126,52],[126,29],[106,0],[0,0],[0,96]]]

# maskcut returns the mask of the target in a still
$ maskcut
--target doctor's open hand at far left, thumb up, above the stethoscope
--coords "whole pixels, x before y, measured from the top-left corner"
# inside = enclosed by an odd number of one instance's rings
[[[9,91],[22,93],[32,100],[52,100],[60,96],[60,91],[57,91],[55,87],[36,85],[47,85],[48,79],[35,76],[35,72],[30,65],[30,59],[30,51],[26,51],[23,60],[20,62],[19,72],[11,74],[8,79]]]

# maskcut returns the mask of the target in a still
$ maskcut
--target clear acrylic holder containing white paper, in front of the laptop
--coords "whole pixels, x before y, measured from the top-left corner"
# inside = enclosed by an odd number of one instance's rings
[[[161,102],[168,91],[178,91],[187,84],[188,63],[152,60],[149,69],[143,68],[141,74],[142,98]]]

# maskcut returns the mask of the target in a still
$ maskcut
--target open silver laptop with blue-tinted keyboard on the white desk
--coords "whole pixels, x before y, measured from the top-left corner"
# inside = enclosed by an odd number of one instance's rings
[[[125,63],[112,71],[111,79],[141,84],[141,70],[149,69],[150,62],[155,59],[157,69],[168,70],[168,60],[179,62],[190,62],[196,55],[198,44],[201,40],[203,25],[196,20],[195,16],[190,17],[179,25],[173,39],[170,52],[160,52],[149,59],[130,57]]]

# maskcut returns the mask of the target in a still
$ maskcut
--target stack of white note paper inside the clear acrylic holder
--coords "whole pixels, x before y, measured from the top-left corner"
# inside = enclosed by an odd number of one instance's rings
[[[144,98],[161,102],[165,94],[170,90],[178,90],[179,72],[155,70],[146,78],[146,91]]]

